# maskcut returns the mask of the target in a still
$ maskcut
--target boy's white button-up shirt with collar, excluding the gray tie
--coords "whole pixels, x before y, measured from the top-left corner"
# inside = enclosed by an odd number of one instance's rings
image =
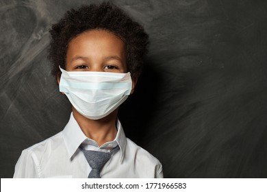
[[[62,132],[23,150],[15,167],[14,178],[87,178],[91,167],[79,148],[109,152],[119,145],[101,170],[101,178],[163,178],[157,158],[125,137],[117,120],[116,138],[104,143],[88,139],[73,114]]]

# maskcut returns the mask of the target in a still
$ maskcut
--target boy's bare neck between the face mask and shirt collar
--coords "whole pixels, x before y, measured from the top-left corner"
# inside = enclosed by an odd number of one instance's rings
[[[84,134],[96,141],[99,145],[103,145],[108,141],[113,141],[116,138],[116,118],[118,109],[114,110],[110,115],[98,120],[92,120],[79,114],[75,108],[73,108],[73,117],[79,124],[81,131]]]

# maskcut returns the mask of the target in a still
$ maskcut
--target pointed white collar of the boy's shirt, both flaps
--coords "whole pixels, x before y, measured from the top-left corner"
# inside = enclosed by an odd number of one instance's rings
[[[123,126],[120,124],[120,121],[117,119],[116,121],[118,132],[116,134],[116,138],[114,141],[118,143],[118,146],[120,147],[120,161],[123,161],[123,158],[125,156],[125,148],[126,148],[126,137],[125,133],[123,131]],[[79,127],[79,124],[73,117],[73,113],[71,112],[71,117],[66,124],[64,130],[62,131],[63,137],[64,137],[64,143],[66,145],[66,149],[68,151],[68,158],[71,158],[73,154],[77,151],[79,148],[79,145],[86,141],[87,136],[84,134],[84,132],[81,131],[81,128]]]

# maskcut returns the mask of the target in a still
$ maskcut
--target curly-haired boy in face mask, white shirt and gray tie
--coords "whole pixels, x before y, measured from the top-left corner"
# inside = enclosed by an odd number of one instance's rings
[[[53,75],[73,112],[62,132],[23,150],[14,178],[162,178],[160,162],[117,119],[147,53],[144,29],[101,3],[66,12],[50,33]]]

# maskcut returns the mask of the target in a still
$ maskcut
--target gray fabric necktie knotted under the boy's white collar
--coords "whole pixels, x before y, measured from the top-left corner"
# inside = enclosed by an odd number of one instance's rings
[[[110,160],[112,154],[116,153],[120,147],[118,145],[114,147],[110,152],[97,152],[92,150],[86,150],[83,147],[80,147],[86,156],[92,170],[90,171],[88,178],[100,178],[100,171],[104,167],[105,163]]]

